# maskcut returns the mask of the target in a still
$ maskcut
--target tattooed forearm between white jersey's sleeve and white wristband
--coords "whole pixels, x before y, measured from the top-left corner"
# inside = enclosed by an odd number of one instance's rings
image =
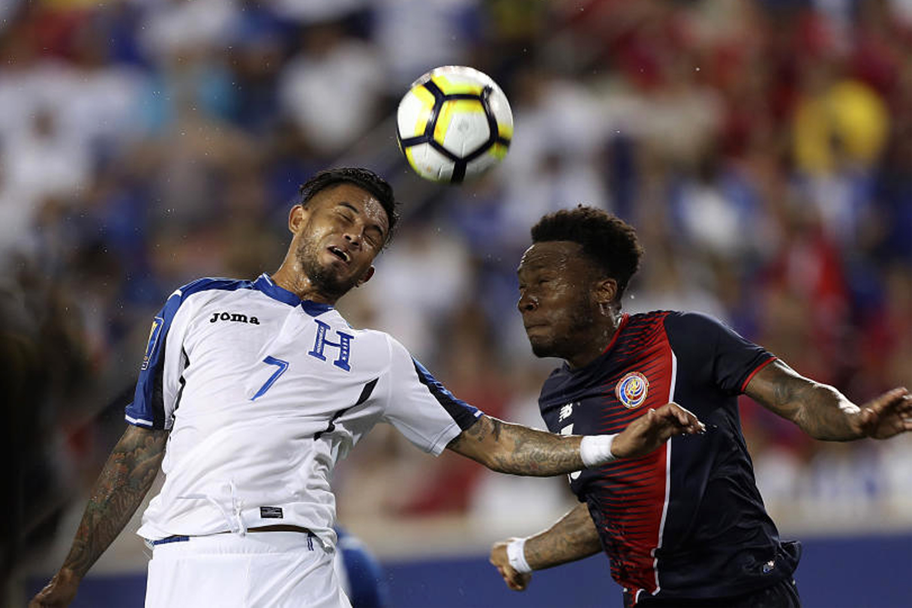
[[[498,472],[548,477],[583,469],[579,442],[482,416],[449,447]]]

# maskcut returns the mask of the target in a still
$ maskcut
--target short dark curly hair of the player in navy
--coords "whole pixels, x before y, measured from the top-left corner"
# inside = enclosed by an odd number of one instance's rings
[[[582,245],[586,257],[617,281],[617,302],[643,255],[633,226],[607,211],[584,205],[549,213],[532,227],[532,242],[549,241]]]

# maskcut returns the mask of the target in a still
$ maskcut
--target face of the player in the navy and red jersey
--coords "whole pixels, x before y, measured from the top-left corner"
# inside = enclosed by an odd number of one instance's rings
[[[523,254],[519,308],[535,356],[575,359],[588,344],[598,305],[596,273],[577,242],[536,242]]]

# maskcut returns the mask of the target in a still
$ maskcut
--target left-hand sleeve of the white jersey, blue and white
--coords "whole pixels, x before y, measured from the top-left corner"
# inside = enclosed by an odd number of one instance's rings
[[[181,289],[175,291],[152,319],[133,402],[124,414],[127,422],[137,427],[171,428],[181,394],[181,372],[186,366],[181,347],[183,328],[180,322],[175,323],[184,295]]]

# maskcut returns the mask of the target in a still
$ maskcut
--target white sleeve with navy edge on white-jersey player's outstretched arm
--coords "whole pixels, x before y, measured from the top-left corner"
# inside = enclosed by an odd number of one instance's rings
[[[452,395],[399,342],[389,338],[389,397],[383,418],[415,446],[440,454],[482,416]]]

